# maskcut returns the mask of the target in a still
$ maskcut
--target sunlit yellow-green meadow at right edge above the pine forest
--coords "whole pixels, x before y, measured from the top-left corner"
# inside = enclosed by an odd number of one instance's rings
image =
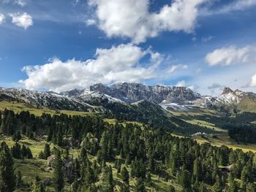
[[[193,137],[193,139],[195,139],[198,143],[209,142],[209,143],[211,143],[211,145],[214,145],[217,147],[226,145],[227,147],[230,147],[233,150],[241,149],[244,152],[252,151],[253,153],[256,153],[256,144],[248,144],[248,145],[238,144],[233,139],[230,139],[230,137],[228,137],[227,133],[220,134],[216,138],[206,137],[206,139],[204,139],[203,137]]]

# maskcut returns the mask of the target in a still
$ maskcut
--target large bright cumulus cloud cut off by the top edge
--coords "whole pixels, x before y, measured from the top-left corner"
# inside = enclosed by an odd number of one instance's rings
[[[198,7],[206,0],[174,0],[158,12],[149,12],[149,0],[89,0],[94,7],[97,26],[108,37],[129,37],[145,42],[162,31],[184,31],[195,28]]]

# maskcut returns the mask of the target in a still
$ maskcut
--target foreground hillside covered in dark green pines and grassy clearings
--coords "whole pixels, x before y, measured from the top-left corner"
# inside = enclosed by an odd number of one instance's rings
[[[97,115],[0,116],[0,191],[255,191],[252,152]]]

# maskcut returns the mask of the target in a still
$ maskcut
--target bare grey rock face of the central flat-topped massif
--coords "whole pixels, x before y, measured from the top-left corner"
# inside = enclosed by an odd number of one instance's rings
[[[147,86],[128,82],[116,83],[110,87],[102,84],[92,85],[90,91],[99,91],[128,103],[140,100],[154,101],[156,103],[161,103],[162,101],[195,101],[195,99],[200,98],[199,93],[195,93],[189,88],[164,85]]]

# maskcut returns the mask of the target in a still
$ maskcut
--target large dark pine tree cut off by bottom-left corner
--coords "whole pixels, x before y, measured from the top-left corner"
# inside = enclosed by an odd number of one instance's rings
[[[5,142],[0,147],[0,191],[15,190],[15,174],[12,155]]]

